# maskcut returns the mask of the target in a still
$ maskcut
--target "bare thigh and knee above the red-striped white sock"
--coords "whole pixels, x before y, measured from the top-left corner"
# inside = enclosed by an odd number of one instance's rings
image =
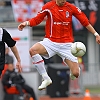
[[[30,52],[31,54],[40,54],[40,55],[44,55],[44,54],[48,54],[47,50],[45,49],[45,47],[40,44],[40,43],[36,43],[34,44],[31,48],[30,48]]]

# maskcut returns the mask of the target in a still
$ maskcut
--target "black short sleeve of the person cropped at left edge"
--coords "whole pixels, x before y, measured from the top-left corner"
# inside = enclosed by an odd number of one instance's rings
[[[16,41],[12,39],[11,35],[3,29],[3,42],[7,44],[8,47],[13,47],[16,44]]]

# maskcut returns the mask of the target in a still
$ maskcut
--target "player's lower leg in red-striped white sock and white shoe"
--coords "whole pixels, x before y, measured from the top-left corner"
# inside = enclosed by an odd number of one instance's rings
[[[39,54],[35,54],[32,56],[33,64],[35,65],[35,68],[38,70],[39,74],[42,75],[43,82],[38,87],[39,90],[45,89],[48,85],[52,84],[51,78],[48,76],[45,66],[44,66],[44,60]]]

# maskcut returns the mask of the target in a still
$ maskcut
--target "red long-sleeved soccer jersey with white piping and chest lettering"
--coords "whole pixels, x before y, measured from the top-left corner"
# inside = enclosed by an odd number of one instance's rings
[[[58,6],[55,1],[46,3],[36,17],[29,20],[30,26],[40,24],[47,16],[45,38],[53,42],[73,42],[72,16],[75,16],[83,26],[89,25],[85,14],[76,6],[66,2]]]

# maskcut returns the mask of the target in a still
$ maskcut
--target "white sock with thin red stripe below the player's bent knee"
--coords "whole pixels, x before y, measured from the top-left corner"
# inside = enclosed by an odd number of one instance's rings
[[[42,59],[42,57],[39,54],[32,56],[32,62],[35,65],[39,74],[42,75],[44,80],[50,79],[50,77],[48,76],[46,69],[45,69],[44,60]]]

